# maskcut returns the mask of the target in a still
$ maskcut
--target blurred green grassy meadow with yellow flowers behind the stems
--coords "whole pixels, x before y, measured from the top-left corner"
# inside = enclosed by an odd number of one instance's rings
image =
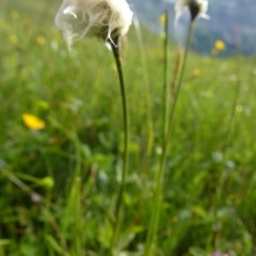
[[[0,256],[104,256],[111,244],[124,151],[118,76],[94,39],[68,52],[54,26],[60,3],[0,3]],[[143,255],[161,154],[163,39],[142,35],[132,26],[123,49],[131,144],[119,256]],[[171,86],[177,45],[169,52]],[[189,53],[155,255],[256,255],[255,79],[253,57]]]

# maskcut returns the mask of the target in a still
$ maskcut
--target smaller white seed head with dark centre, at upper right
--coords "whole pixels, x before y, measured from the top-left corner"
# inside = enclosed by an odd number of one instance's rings
[[[189,9],[191,21],[194,21],[197,16],[209,19],[207,15],[208,1],[207,0],[177,0],[175,4],[175,20],[177,21],[183,14],[183,11]]]

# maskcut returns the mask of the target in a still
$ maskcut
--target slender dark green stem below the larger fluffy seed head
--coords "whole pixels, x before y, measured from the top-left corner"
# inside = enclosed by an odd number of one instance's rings
[[[119,186],[119,192],[117,196],[116,206],[114,210],[114,216],[115,216],[115,222],[113,225],[113,238],[111,241],[111,249],[113,250],[113,247],[118,239],[119,236],[119,227],[121,223],[120,218],[120,210],[123,204],[123,194],[125,190],[125,177],[128,172],[128,162],[129,162],[129,113],[128,113],[128,104],[126,99],[126,92],[125,92],[125,81],[123,76],[123,68],[122,68],[122,58],[119,52],[119,40],[116,40],[116,44],[111,44],[114,60],[116,63],[118,75],[119,75],[119,85],[120,85],[120,92],[121,92],[121,98],[122,98],[122,108],[123,108],[123,122],[124,122],[124,132],[125,132],[125,149],[124,149],[124,155],[123,155],[123,172],[121,177],[121,183]]]

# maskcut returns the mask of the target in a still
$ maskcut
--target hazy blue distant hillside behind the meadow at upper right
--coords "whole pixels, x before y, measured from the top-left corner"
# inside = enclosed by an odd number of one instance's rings
[[[155,20],[165,9],[170,10],[174,20],[173,5],[175,0],[129,0],[143,25],[154,31],[160,26]],[[241,53],[256,54],[256,2],[253,0],[209,0],[208,15],[211,20],[201,19],[195,32],[193,48],[201,53],[208,53],[215,40],[221,39],[228,45],[225,55]],[[185,25],[185,18],[181,20]],[[180,26],[183,32],[184,27]],[[174,35],[173,35],[174,37]]]

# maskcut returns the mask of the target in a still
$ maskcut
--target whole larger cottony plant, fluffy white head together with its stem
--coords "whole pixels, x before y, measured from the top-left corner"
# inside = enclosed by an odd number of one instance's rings
[[[126,0],[63,0],[55,15],[55,25],[63,32],[69,49],[76,39],[85,35],[104,41],[112,49],[119,75],[119,85],[123,106],[125,149],[123,155],[123,170],[119,192],[114,209],[113,237],[110,249],[116,245],[121,223],[120,212],[125,190],[125,177],[128,172],[129,148],[129,115],[123,78],[122,61],[119,52],[119,38],[129,31],[132,21],[132,11]]]

